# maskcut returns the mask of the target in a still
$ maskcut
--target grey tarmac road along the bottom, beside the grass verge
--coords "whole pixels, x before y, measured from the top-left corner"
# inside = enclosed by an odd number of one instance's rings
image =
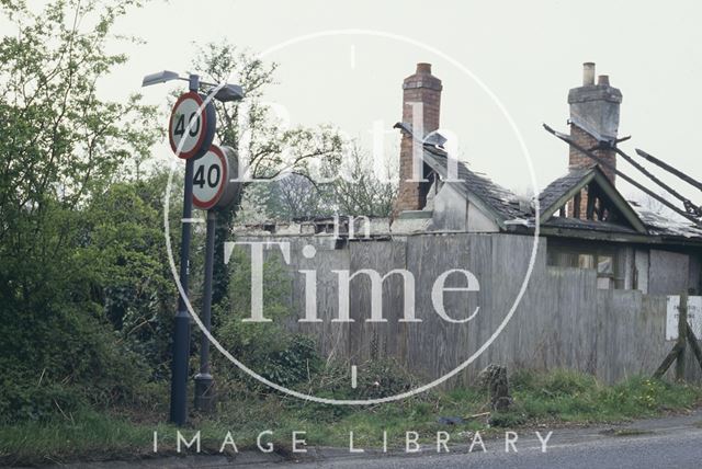
[[[449,445],[437,454],[435,445],[419,454],[350,454],[348,448],[308,448],[298,460],[281,455],[241,451],[237,457],[184,456],[105,462],[83,462],[61,468],[267,468],[267,469],[395,469],[395,468],[702,468],[702,409],[687,415],[641,420],[630,424],[585,428],[535,428],[542,438],[553,431],[546,453],[533,430],[520,430],[518,453],[506,453],[505,438],[485,438],[468,453],[465,444]]]

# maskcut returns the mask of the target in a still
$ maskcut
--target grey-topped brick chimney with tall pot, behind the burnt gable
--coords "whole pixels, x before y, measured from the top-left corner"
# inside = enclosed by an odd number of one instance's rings
[[[601,75],[595,83],[595,64],[582,64],[582,85],[568,92],[570,105],[570,138],[585,148],[597,146],[598,141],[590,134],[603,139],[615,139],[619,131],[619,110],[622,102],[622,92],[610,87],[609,77]],[[595,151],[600,159],[616,167],[616,153],[613,150],[602,149]],[[591,167],[595,161],[579,150],[570,147],[568,168]],[[608,168],[600,167],[612,183],[615,174]],[[587,193],[578,197],[580,199],[581,217],[585,217],[587,207]],[[573,216],[574,208],[569,207]]]

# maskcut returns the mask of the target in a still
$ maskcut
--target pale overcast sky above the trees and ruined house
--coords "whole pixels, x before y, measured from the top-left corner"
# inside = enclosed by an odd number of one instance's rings
[[[624,96],[620,136],[632,136],[624,151],[645,149],[702,180],[700,20],[695,1],[151,0],[117,22],[115,32],[145,43],[111,46],[131,60],[100,90],[124,100],[140,91],[144,75],[192,71],[197,44],[276,48],[263,57],[280,66],[267,99],[285,106],[293,124],[331,123],[370,148],[380,121],[396,162],[399,136],[389,130],[401,117],[403,79],[417,62],[431,62],[443,81],[442,128],[458,139],[461,159],[529,193],[528,155],[537,186],[567,171],[566,145],[541,125],[567,131],[568,90],[581,83],[582,62],[595,61]],[[166,105],[167,85],[143,92]],[[636,174],[623,161],[619,168]],[[695,190],[653,171],[702,203]],[[621,180],[618,187],[642,197]]]

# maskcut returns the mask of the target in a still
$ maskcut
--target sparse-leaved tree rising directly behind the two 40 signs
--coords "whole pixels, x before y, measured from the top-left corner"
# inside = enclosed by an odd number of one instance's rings
[[[256,55],[222,41],[204,45],[195,55],[193,68],[214,82],[234,82],[244,88],[240,102],[216,103],[217,139],[222,145],[239,149],[240,161],[247,161],[251,180],[270,180],[284,174],[298,174],[314,180],[314,174],[330,170],[341,161],[343,141],[329,126],[287,127],[263,93],[274,83],[276,65],[267,64]],[[247,182],[241,197],[254,185]],[[215,259],[223,259],[224,243],[230,241],[231,227],[241,199],[219,214],[215,237]],[[226,301],[228,267],[215,263],[213,304]]]

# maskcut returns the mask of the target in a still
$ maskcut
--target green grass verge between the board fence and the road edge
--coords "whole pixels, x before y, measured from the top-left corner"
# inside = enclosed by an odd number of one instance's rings
[[[634,377],[604,386],[588,375],[556,370],[521,371],[510,378],[514,403],[509,412],[487,412],[487,396],[473,388],[431,392],[403,402],[364,408],[302,402],[278,394],[246,394],[220,402],[213,415],[193,414],[182,434],[190,439],[201,432],[202,453],[217,454],[227,432],[237,449],[254,448],[260,432],[264,441],[286,453],[292,432],[306,432],[308,446],[380,447],[387,432],[389,447],[404,445],[405,432],[414,431],[430,442],[438,431],[452,442],[466,442],[475,431],[531,425],[619,422],[692,409],[702,403],[702,387]],[[163,390],[166,392],[166,390]],[[163,396],[167,396],[163,393]],[[176,454],[177,428],[160,423],[166,409],[121,409],[56,415],[43,422],[21,422],[0,427],[0,465],[41,465],[72,460],[104,460],[152,456],[154,432],[159,454]],[[475,416],[477,415],[477,416]],[[439,417],[461,417],[445,425]],[[501,431],[501,430],[500,430]],[[469,439],[467,439],[469,442]],[[231,453],[228,446],[225,453]]]

